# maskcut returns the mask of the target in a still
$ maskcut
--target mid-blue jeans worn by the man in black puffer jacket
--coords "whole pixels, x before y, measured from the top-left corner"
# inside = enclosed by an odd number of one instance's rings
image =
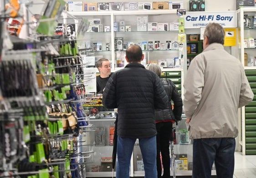
[[[117,147],[117,174],[116,178],[129,178],[131,156],[136,138],[123,138],[118,136]],[[157,178],[156,170],[156,136],[139,138],[145,178]]]

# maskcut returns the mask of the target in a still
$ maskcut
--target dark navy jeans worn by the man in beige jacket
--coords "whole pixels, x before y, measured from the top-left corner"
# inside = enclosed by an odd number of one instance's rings
[[[210,178],[214,162],[217,178],[233,178],[235,148],[235,138],[194,139],[192,178]]]

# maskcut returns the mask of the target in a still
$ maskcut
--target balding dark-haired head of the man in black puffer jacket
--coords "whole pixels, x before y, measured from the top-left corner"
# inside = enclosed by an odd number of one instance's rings
[[[128,58],[128,61],[130,63],[133,62],[139,62],[141,61],[142,58],[142,50],[140,48],[140,46],[138,45],[130,45],[127,49],[126,49],[126,57]]]

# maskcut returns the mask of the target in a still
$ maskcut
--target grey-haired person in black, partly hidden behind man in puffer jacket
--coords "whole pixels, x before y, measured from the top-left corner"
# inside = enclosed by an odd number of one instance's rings
[[[154,71],[160,78],[161,68],[159,65],[151,63],[147,65],[148,70]],[[169,107],[163,109],[155,110],[155,120],[156,120],[156,146],[157,146],[157,177],[158,178],[170,178],[170,138],[173,128],[173,123],[181,120],[182,114],[182,98],[170,79],[161,79],[164,84],[164,89],[169,97]],[[171,101],[174,103],[174,109],[172,109]],[[162,163],[164,168],[164,174],[162,176],[162,164],[160,153],[162,155]]]

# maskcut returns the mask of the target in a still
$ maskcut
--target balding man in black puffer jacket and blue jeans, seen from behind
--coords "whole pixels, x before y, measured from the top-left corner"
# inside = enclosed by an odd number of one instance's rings
[[[106,108],[118,108],[116,178],[129,178],[137,138],[145,178],[157,178],[154,109],[167,108],[168,96],[157,74],[140,64],[144,54],[138,45],[129,46],[125,58],[129,64],[111,75],[102,98]]]

